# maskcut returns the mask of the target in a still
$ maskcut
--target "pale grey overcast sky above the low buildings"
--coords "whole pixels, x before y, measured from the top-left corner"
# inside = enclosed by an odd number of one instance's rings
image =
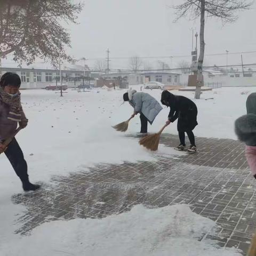
[[[78,25],[67,26],[72,40],[68,53],[76,59],[85,57],[86,64],[95,66],[95,59],[105,60],[110,50],[110,68],[129,68],[129,58],[138,55],[153,68],[166,62],[175,68],[182,60],[189,61],[192,31],[199,33],[199,20],[182,18],[174,23],[171,6],[183,0],[86,0],[78,15]],[[256,51],[256,3],[251,10],[239,12],[235,23],[222,25],[218,19],[206,19],[205,66],[241,64],[240,52]],[[233,54],[238,52],[239,54]],[[221,53],[223,55],[207,56]],[[170,58],[173,56],[173,58]],[[158,58],[151,58],[158,57]],[[161,58],[165,57],[165,58]],[[122,59],[116,59],[122,58]],[[244,63],[255,63],[255,53],[243,53]],[[5,61],[10,63],[10,60]],[[4,62],[3,62],[4,63]]]

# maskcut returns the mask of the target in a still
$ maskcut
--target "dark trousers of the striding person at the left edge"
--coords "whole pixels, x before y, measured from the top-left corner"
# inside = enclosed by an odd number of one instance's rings
[[[5,155],[9,159],[15,173],[23,182],[28,181],[28,166],[27,162],[24,159],[22,150],[14,138],[5,150]]]

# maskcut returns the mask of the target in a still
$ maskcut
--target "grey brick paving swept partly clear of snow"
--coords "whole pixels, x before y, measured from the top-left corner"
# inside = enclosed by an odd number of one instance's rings
[[[136,139],[136,138],[134,138]],[[163,134],[161,143],[174,147],[177,137]],[[46,221],[103,218],[129,211],[133,205],[162,207],[189,204],[194,212],[217,221],[201,239],[247,251],[256,230],[256,182],[238,141],[197,138],[198,153],[179,157],[157,155],[157,162],[99,165],[90,172],[55,177],[56,186],[13,196],[27,207],[17,233],[27,234]]]

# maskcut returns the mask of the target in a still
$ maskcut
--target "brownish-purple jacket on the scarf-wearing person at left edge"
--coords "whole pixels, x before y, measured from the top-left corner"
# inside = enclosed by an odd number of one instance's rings
[[[27,122],[24,112],[15,113],[15,111],[12,111],[12,107],[4,103],[0,98],[0,142],[13,135],[17,129],[18,122]]]

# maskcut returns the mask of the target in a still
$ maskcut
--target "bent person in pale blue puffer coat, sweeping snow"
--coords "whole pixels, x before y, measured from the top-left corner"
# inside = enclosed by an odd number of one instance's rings
[[[132,117],[140,114],[140,133],[148,132],[148,122],[153,124],[156,116],[163,109],[155,98],[145,92],[137,92],[130,89],[124,93],[123,100],[129,101],[134,108]]]

